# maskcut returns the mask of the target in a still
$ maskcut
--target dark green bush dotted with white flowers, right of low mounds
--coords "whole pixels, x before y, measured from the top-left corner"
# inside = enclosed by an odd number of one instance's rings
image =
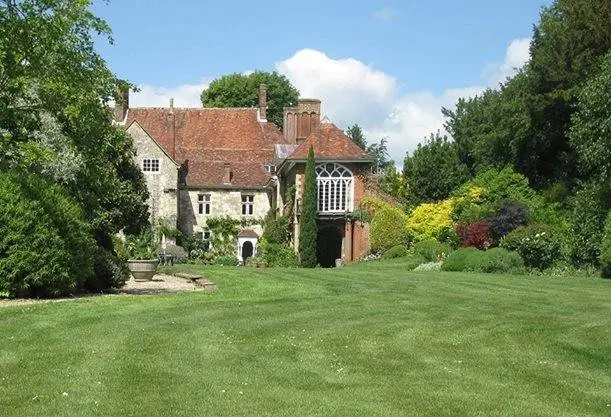
[[[547,269],[564,259],[562,236],[551,226],[522,226],[501,239],[500,246],[520,254],[526,266]]]

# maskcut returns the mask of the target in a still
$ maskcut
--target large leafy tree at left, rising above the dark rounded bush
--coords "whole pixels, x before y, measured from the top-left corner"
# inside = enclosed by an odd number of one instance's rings
[[[0,1],[0,167],[59,182],[85,209],[99,243],[147,223],[132,140],[113,126],[119,85],[96,53],[110,28],[91,2]]]

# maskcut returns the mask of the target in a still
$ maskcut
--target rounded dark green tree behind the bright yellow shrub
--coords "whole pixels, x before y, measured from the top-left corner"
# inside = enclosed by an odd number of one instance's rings
[[[413,204],[443,200],[469,178],[456,143],[439,132],[405,157],[403,176],[407,198]]]

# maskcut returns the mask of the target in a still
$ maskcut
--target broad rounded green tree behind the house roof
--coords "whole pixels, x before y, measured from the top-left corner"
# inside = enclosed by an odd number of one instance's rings
[[[259,104],[259,85],[267,86],[267,119],[282,128],[283,108],[293,106],[299,91],[284,75],[255,71],[229,74],[212,81],[201,94],[204,107],[255,107]]]

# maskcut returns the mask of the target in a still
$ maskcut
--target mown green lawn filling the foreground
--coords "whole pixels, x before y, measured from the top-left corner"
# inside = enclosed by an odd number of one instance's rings
[[[0,415],[611,415],[611,281],[407,262],[0,309]]]

